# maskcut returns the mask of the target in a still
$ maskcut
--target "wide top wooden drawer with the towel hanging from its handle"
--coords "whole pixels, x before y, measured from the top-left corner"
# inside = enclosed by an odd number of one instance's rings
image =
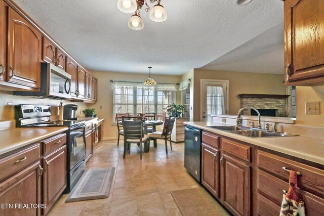
[[[298,176],[298,186],[303,190],[324,196],[324,170],[322,169],[260,150],[257,151],[257,165],[280,176],[287,182],[289,180],[289,173],[282,169],[282,167],[299,171],[302,176]]]

